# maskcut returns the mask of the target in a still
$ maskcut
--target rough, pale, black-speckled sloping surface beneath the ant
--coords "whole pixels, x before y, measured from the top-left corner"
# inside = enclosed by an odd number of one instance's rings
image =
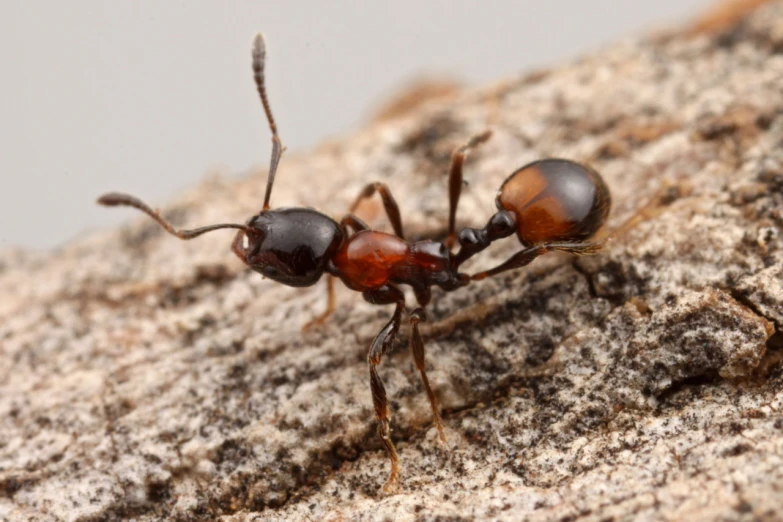
[[[402,332],[381,368],[399,494],[380,491],[365,362],[391,310],[341,290],[303,333],[323,288],[246,271],[229,232],[180,242],[134,215],[0,254],[0,519],[780,520],[783,2],[291,154],[273,203],[340,215],[382,180],[412,234],[442,235],[449,154],[487,125],[462,224],[485,222],[515,167],[556,155],[604,174],[615,236],[436,292],[447,449]],[[242,221],[263,188],[263,172],[210,179],[165,214]],[[386,226],[379,204],[362,214]],[[516,248],[496,246],[471,266]]]

